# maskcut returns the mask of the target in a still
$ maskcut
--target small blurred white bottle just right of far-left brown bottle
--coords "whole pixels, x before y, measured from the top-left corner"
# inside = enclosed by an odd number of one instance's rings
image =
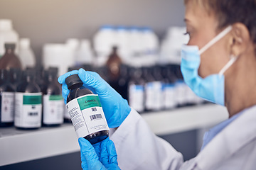
[[[31,49],[31,41],[29,38],[21,38],[19,41],[20,50],[18,52],[19,60],[21,60],[21,64],[23,69],[26,67],[36,67],[36,57]]]

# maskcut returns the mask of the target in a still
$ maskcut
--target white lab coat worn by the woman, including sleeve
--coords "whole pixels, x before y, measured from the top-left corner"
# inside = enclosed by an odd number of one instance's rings
[[[181,153],[168,142],[154,135],[133,109],[110,139],[122,170],[255,170],[256,106],[248,108],[188,162],[183,162]]]

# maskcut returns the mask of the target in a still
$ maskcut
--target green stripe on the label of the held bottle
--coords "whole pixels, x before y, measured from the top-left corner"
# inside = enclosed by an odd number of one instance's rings
[[[78,104],[81,111],[86,108],[101,107],[99,96],[84,96],[78,98]]]

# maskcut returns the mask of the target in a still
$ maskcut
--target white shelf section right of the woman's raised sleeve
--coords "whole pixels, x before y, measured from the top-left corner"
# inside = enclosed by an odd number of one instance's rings
[[[142,115],[156,135],[169,135],[187,130],[209,128],[228,119],[228,111],[223,106],[207,104],[178,108]]]

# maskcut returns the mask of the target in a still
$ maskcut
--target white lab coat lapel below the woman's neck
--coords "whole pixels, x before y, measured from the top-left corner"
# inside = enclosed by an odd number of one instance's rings
[[[256,106],[242,112],[198,154],[191,169],[216,169],[215,166],[256,138]]]

